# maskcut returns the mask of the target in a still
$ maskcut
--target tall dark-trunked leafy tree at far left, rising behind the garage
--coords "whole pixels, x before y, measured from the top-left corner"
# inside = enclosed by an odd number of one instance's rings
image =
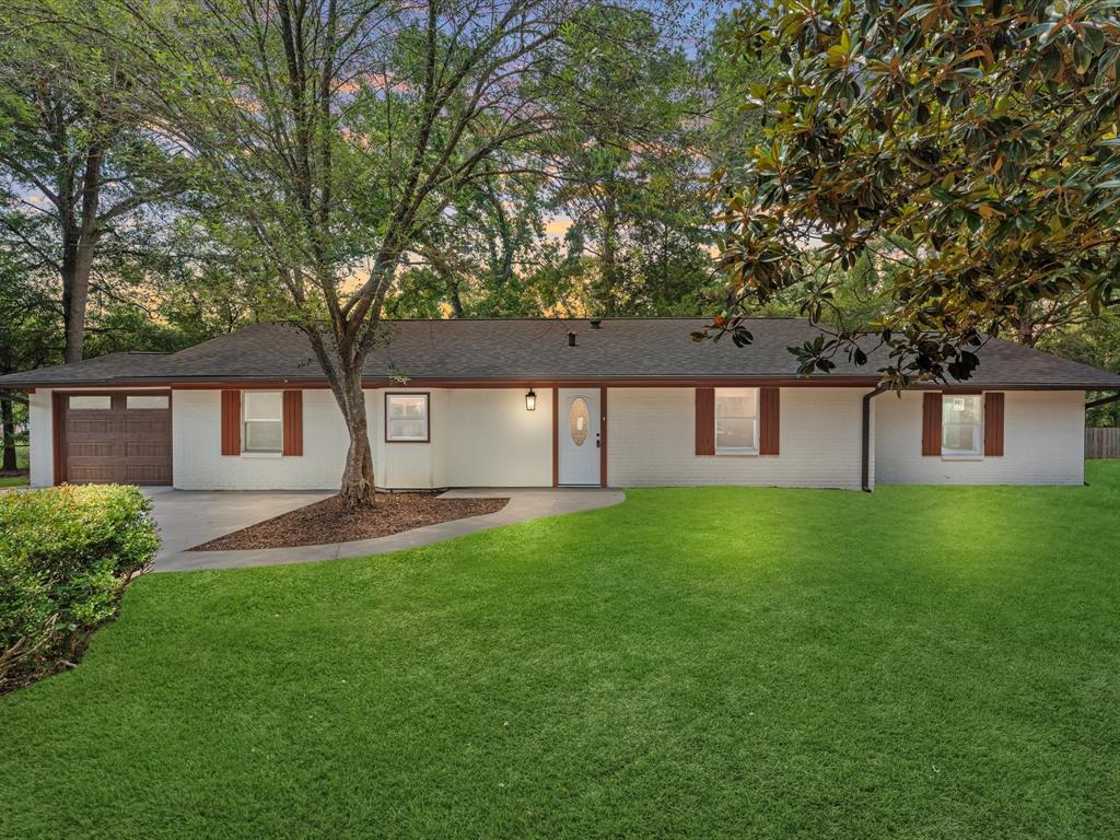
[[[137,67],[112,36],[120,20],[108,0],[0,10],[0,34],[19,34],[3,38],[0,63],[0,188],[9,209],[48,222],[22,244],[57,278],[67,362],[83,356],[97,269],[134,262],[152,224],[146,212],[183,187],[174,148],[147,121]]]

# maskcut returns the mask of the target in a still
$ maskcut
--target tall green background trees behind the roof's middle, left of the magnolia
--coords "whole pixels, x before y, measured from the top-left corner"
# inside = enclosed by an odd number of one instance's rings
[[[738,121],[717,108],[722,53],[683,46],[710,37],[706,7],[690,13],[582,4],[539,91],[552,125],[515,151],[540,171],[489,178],[457,198],[409,260],[392,311],[702,311],[716,240],[706,179],[715,139],[719,152],[730,148],[717,124],[729,133]]]

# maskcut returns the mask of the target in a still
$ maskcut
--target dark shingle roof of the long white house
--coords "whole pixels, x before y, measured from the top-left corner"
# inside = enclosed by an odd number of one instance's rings
[[[755,343],[696,344],[698,318],[604,319],[594,329],[584,319],[399,320],[383,324],[384,339],[366,361],[365,375],[386,380],[665,380],[793,379],[797,363],[791,345],[818,330],[797,318],[748,323]],[[568,332],[577,346],[568,346]],[[1018,344],[992,340],[980,352],[980,368],[968,384],[1005,388],[1120,389],[1120,375],[1070,362]],[[841,363],[818,381],[871,383],[876,362]],[[121,382],[212,382],[321,380],[306,336],[291,326],[259,324],[168,355],[114,354],[0,377],[0,388]]]

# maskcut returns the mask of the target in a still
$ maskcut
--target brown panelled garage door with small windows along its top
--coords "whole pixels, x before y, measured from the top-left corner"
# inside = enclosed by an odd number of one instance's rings
[[[170,484],[171,394],[56,395],[57,482]]]

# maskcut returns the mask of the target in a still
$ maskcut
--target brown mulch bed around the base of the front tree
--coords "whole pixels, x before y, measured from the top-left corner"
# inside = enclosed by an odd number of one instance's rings
[[[439,498],[430,493],[379,493],[377,504],[351,510],[340,496],[276,516],[232,534],[196,545],[192,551],[286,549],[388,536],[413,528],[505,507],[508,498]]]

